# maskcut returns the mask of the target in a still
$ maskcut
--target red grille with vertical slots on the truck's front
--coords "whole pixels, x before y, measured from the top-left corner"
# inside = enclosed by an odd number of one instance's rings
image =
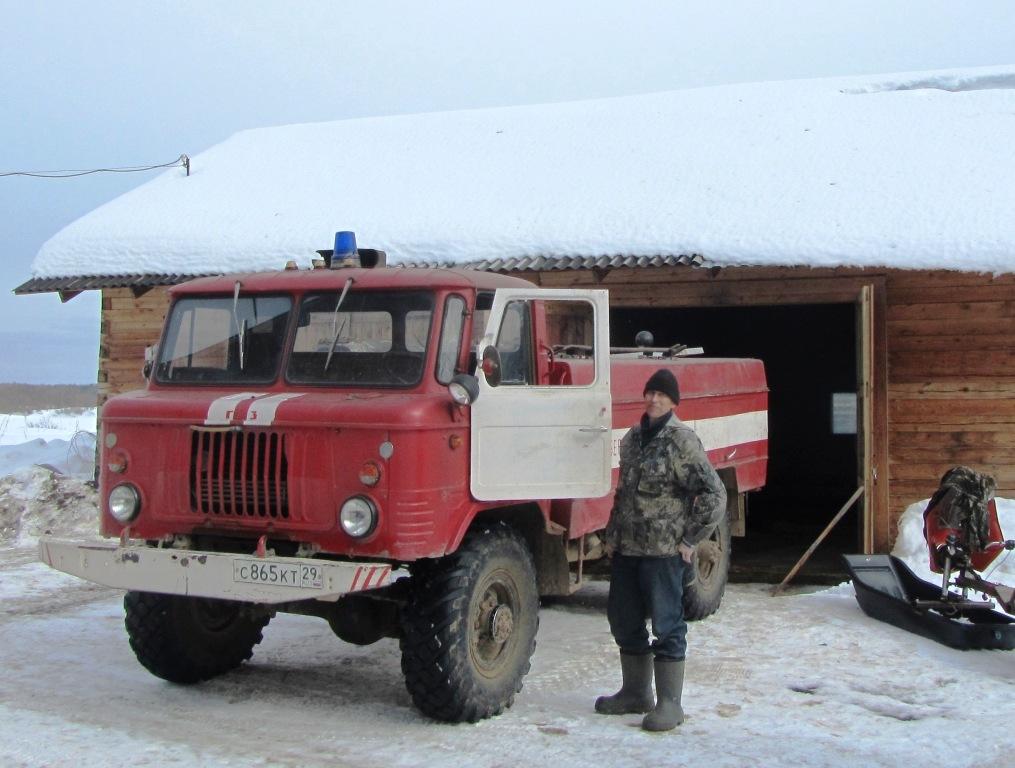
[[[202,514],[289,517],[285,435],[196,428],[191,437],[191,508]]]

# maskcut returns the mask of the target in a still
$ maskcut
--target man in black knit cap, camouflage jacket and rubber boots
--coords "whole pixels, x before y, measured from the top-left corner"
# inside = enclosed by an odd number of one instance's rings
[[[648,712],[642,728],[670,730],[684,719],[684,571],[695,545],[726,513],[726,488],[701,440],[673,413],[680,402],[673,373],[653,373],[644,396],[641,423],[620,442],[620,479],[606,527],[613,552],[607,616],[623,684],[600,696],[596,711]],[[646,619],[656,637],[651,643]]]

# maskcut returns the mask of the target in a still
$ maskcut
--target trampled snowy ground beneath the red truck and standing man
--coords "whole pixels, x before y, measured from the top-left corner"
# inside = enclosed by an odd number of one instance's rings
[[[82,488],[46,470],[0,481],[0,513],[18,508],[12,491],[50,494],[22,505],[16,532],[8,525],[0,539],[3,766],[946,760],[960,768],[1006,765],[1015,755],[1015,653],[952,650],[869,619],[849,584],[781,598],[769,597],[767,585],[732,585],[720,612],[690,629],[687,720],[669,735],[641,731],[637,716],[593,712],[595,697],[618,682],[605,582],[543,608],[532,672],[515,706],[474,725],[434,723],[413,709],[395,641],[348,645],[307,617],[274,619],[252,661],[235,673],[173,686],[135,661],[120,594],[36,561],[42,531],[84,536],[94,528],[94,500]],[[1011,536],[1015,504],[1002,511]],[[14,512],[7,514],[10,523]],[[919,568],[922,558],[915,550],[907,561]]]

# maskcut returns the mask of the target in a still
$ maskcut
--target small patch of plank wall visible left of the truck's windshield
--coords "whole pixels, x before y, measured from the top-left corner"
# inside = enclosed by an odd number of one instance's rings
[[[135,297],[130,288],[103,290],[98,335],[98,407],[114,395],[144,387],[144,348],[156,344],[170,306],[165,288]]]

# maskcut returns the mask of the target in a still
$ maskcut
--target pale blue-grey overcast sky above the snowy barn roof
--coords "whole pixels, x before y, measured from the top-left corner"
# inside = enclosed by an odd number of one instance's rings
[[[256,126],[1015,62],[1010,0],[0,0],[0,171],[155,164]],[[97,294],[9,291],[153,176],[0,178],[0,381],[94,381]]]

